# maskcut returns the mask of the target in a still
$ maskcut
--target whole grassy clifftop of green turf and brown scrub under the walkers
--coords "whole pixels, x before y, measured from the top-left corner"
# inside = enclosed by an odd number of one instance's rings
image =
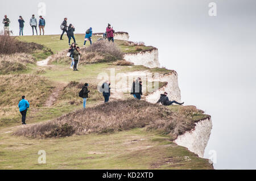
[[[29,67],[26,71],[0,74],[0,169],[213,169],[207,159],[173,142],[197,121],[206,119],[204,112],[195,107],[138,102],[127,94],[113,95],[106,105],[97,91],[97,75],[111,68],[115,73],[163,75],[176,73],[174,70],[119,66],[110,61],[85,62],[75,72],[65,57],[67,37],[63,41],[59,35],[18,39],[42,44],[55,55],[49,66],[39,67],[36,61],[48,54],[35,58],[34,52],[25,53],[21,61],[31,62],[25,64]],[[81,45],[84,35],[76,35],[76,39]],[[116,43],[123,53],[140,48],[126,41]],[[82,99],[78,97],[84,82],[90,83],[91,91],[86,111],[81,110]],[[23,94],[31,103],[26,127],[20,125],[17,108]],[[47,164],[39,165],[38,151],[42,149],[47,153]]]

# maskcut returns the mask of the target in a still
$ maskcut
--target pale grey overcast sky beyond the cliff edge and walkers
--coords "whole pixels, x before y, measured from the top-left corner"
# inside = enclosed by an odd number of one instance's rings
[[[0,1],[17,35],[18,18],[38,18],[46,4],[46,34],[60,33],[64,17],[84,33],[127,31],[130,40],[159,49],[162,66],[179,74],[182,100],[212,115],[213,131],[205,151],[217,153],[216,169],[256,169],[256,2],[255,0]],[[72,4],[73,2],[73,4]],[[209,16],[210,2],[217,16]]]

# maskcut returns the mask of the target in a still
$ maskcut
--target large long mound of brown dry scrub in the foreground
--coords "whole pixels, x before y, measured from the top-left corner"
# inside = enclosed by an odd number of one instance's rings
[[[168,107],[134,99],[117,100],[79,110],[56,120],[30,125],[15,131],[15,136],[61,137],[72,134],[108,133],[146,127],[148,131],[169,134],[172,140],[195,127]]]

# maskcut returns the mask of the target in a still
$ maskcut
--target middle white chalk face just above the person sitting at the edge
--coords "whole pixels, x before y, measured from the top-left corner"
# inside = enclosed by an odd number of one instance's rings
[[[163,92],[168,93],[168,98],[170,100],[176,100],[177,102],[181,102],[180,88],[176,71],[169,74],[159,75],[158,78],[155,77],[151,81],[168,83],[166,86],[149,94],[146,97],[147,102],[156,103],[159,100],[160,95],[163,94]]]

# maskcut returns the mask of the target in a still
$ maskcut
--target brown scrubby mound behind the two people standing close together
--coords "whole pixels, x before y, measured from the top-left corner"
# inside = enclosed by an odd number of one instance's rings
[[[118,45],[109,43],[109,41],[96,41],[88,48],[81,48],[81,57],[79,64],[96,64],[100,62],[113,62],[123,59],[123,52]],[[63,50],[51,57],[49,62],[56,62],[59,64],[69,64],[70,57],[67,57],[68,50]]]

